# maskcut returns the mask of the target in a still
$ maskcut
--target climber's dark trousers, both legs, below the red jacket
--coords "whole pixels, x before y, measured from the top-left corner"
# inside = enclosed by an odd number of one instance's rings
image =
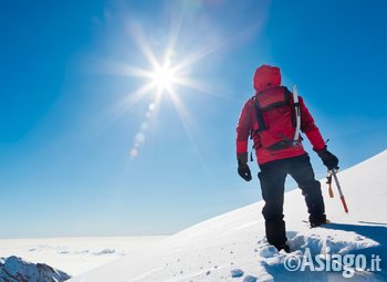
[[[265,202],[262,215],[265,220],[268,242],[282,246],[286,242],[285,221],[283,220],[283,197],[286,175],[293,177],[305,197],[310,220],[325,218],[324,199],[321,184],[314,178],[314,171],[307,154],[270,161],[260,166],[262,198]]]

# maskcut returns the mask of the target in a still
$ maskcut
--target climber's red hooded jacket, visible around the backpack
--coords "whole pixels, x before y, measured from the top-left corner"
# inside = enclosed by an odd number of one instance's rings
[[[279,67],[273,67],[269,65],[263,65],[257,69],[253,80],[253,85],[257,93],[270,88],[278,87],[281,85],[281,73]],[[306,108],[302,97],[300,98],[301,108],[301,130],[306,135],[315,150],[325,148],[325,143],[317,126],[314,124],[314,119]],[[255,132],[259,128],[257,112],[254,108],[254,101],[250,98],[245,102],[242,113],[239,117],[237,127],[237,154],[242,154],[248,152],[248,140],[251,132]],[[297,146],[292,146],[282,150],[269,150],[262,146],[258,146],[259,136],[253,137],[255,156],[259,165],[265,163],[290,158],[295,156],[301,156],[306,154],[302,144]]]

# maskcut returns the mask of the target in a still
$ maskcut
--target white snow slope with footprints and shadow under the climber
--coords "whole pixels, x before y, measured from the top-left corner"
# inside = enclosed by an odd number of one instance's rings
[[[387,281],[386,171],[387,150],[338,174],[348,215],[337,195],[328,198],[323,181],[326,213],[333,223],[321,228],[310,229],[302,221],[307,213],[300,189],[287,192],[284,207],[287,237],[291,248],[296,250],[290,254],[279,253],[266,244],[260,201],[196,224],[153,248],[132,252],[70,281],[348,281],[343,272],[287,271],[283,262],[302,258],[306,248],[313,255],[360,253],[367,259],[380,255],[381,271],[356,271],[351,281]]]

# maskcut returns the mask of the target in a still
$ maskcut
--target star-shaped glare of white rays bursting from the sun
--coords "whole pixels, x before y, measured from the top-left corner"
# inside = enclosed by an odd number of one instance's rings
[[[176,112],[181,121],[181,124],[189,136],[195,148],[197,148],[194,135],[190,133],[194,118],[190,118],[188,108],[184,104],[184,88],[195,91],[196,93],[209,94],[216,97],[230,98],[227,94],[219,90],[212,88],[211,83],[192,77],[192,70],[199,61],[203,61],[210,54],[224,48],[232,39],[227,38],[221,40],[211,27],[206,27],[206,32],[212,36],[200,36],[192,43],[185,42],[187,32],[184,32],[184,19],[187,15],[187,7],[182,6],[181,12],[177,13],[170,21],[169,30],[166,34],[166,42],[160,50],[163,40],[157,41],[157,44],[151,40],[151,32],[145,32],[143,25],[136,21],[129,20],[126,24],[126,31],[130,34],[132,42],[138,48],[143,59],[146,60],[147,66],[129,65],[125,62],[109,62],[108,71],[112,74],[130,76],[144,80],[137,90],[126,95],[118,107],[114,112],[115,118],[121,117],[126,111],[133,108],[143,98],[151,97],[149,107],[147,108],[144,119],[138,125],[138,130],[134,134],[133,146],[129,150],[132,158],[139,156],[139,148],[145,143],[145,137],[151,128],[151,122],[157,116],[163,98],[169,98],[176,108]],[[189,20],[189,17],[187,18]],[[180,38],[180,35],[182,35]],[[155,41],[155,40],[154,40]],[[181,43],[182,48],[179,45]],[[156,49],[156,50],[154,50]],[[160,52],[161,51],[161,52]],[[187,91],[189,93],[189,91]],[[201,156],[197,149],[199,159]]]

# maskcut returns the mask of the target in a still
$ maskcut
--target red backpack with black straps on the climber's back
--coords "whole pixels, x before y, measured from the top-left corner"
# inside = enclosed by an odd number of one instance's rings
[[[295,105],[292,93],[284,86],[264,90],[252,97],[258,128],[252,130],[254,148],[282,150],[296,145]]]

